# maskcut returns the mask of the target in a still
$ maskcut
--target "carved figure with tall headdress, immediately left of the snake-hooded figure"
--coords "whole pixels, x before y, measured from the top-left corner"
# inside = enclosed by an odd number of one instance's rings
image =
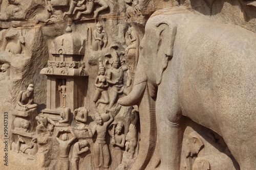
[[[106,81],[105,76],[105,67],[102,63],[102,60],[99,60],[99,73],[96,77],[94,85],[96,86],[95,94],[93,97],[93,102],[97,107],[99,103],[109,104],[109,93],[108,93],[108,86],[109,83]],[[100,99],[102,96],[103,99]]]

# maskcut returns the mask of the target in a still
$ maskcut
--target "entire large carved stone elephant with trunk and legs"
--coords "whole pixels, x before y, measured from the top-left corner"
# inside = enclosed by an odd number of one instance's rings
[[[221,135],[241,170],[254,169],[255,75],[255,33],[182,7],[155,12],[145,26],[133,89],[118,101],[139,105],[141,148],[133,169],[147,167],[156,134],[159,169],[179,169],[182,115]]]

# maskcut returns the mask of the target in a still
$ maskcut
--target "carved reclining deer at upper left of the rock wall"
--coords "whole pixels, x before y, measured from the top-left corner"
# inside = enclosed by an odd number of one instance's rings
[[[25,37],[22,35],[17,42],[9,42],[6,45],[5,52],[10,52],[13,55],[22,54],[22,44],[25,44]]]

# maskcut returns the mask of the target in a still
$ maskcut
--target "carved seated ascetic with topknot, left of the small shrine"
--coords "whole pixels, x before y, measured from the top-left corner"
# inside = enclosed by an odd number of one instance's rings
[[[34,103],[34,85],[30,84],[26,91],[20,91],[18,94],[18,100],[16,110],[28,111],[30,109],[37,108],[37,104]]]

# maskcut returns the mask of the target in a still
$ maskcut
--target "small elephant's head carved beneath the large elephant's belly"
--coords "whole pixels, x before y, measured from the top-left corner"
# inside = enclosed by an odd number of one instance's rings
[[[191,132],[186,140],[186,158],[189,156],[193,157],[194,155],[197,155],[203,146],[204,143],[199,134],[196,131]]]

